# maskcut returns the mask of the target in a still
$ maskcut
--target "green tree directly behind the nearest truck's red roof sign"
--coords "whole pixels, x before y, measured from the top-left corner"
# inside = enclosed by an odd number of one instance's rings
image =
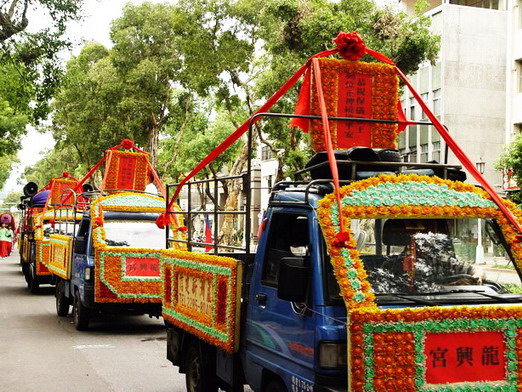
[[[423,61],[434,62],[438,54],[439,37],[430,34],[430,20],[421,15],[425,2],[419,2],[415,18],[380,8],[370,0],[272,0],[266,4],[260,36],[266,42],[269,69],[257,82],[260,96],[276,91],[281,80],[288,79],[311,55],[334,47],[332,38],[339,31],[357,31],[369,48],[390,57],[405,74],[415,72]],[[375,61],[369,56],[363,60]],[[291,113],[297,91],[290,91],[277,110]],[[263,131],[271,141],[265,144],[279,161],[277,180],[293,176],[310,157],[310,150],[297,148],[302,133],[287,128],[283,121]]]

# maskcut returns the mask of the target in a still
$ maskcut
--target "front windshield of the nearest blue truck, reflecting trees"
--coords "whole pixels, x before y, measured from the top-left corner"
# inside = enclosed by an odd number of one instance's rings
[[[351,222],[359,257],[377,296],[458,290],[522,292],[519,273],[503,246],[501,233],[491,227],[491,221],[484,219]],[[331,293],[338,291],[331,289]]]

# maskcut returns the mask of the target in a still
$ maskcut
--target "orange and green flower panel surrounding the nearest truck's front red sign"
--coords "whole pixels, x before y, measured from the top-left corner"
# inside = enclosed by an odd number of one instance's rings
[[[354,392],[517,391],[522,369],[522,307],[404,308],[350,314],[351,387]],[[425,341],[430,333],[500,332],[505,343],[505,380],[428,384]],[[450,336],[450,335],[448,335]]]

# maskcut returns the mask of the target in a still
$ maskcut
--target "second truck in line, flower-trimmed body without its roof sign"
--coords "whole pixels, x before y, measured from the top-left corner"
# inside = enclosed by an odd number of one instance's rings
[[[76,328],[85,330],[100,313],[161,314],[164,234],[155,220],[163,203],[154,195],[115,193],[90,200],[74,227],[57,222],[49,268],[58,279],[59,316],[72,305]]]

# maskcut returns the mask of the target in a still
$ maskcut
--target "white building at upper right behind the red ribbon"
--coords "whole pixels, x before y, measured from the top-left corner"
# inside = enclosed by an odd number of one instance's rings
[[[403,0],[401,5],[411,14],[414,3]],[[439,58],[409,77],[499,191],[502,174],[494,162],[522,130],[521,6],[521,0],[430,0],[427,15],[441,37]],[[409,118],[424,119],[411,94],[405,93],[402,103]],[[444,161],[445,144],[431,127],[410,127],[400,140],[408,160]],[[448,163],[457,163],[452,153]],[[469,181],[475,182],[470,176]]]

